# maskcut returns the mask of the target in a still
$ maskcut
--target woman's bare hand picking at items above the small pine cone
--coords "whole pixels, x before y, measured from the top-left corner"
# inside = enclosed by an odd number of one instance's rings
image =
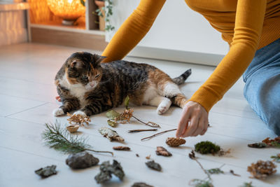
[[[197,102],[187,102],[183,107],[176,137],[196,137],[207,132],[208,112]]]

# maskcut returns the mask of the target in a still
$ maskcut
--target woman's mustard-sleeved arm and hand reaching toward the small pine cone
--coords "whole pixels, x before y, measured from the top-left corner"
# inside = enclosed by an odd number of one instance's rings
[[[237,2],[235,34],[230,50],[214,73],[190,98],[191,104],[186,104],[176,133],[178,137],[204,134],[208,125],[207,112],[232,87],[253,60],[262,32],[266,4],[265,0]]]

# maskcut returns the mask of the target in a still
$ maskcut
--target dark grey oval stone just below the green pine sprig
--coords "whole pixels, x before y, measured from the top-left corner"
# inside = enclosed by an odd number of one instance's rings
[[[98,162],[98,158],[86,151],[73,153],[66,159],[66,165],[69,165],[72,169],[85,169],[97,165]]]

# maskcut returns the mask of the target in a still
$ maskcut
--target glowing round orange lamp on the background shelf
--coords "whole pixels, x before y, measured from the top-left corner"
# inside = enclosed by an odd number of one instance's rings
[[[80,0],[48,0],[48,7],[53,14],[63,19],[64,25],[72,25],[77,18],[85,15],[85,6]]]

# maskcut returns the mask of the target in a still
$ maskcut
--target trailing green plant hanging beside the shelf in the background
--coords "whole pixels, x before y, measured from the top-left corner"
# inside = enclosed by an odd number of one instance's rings
[[[110,17],[113,15],[113,2],[112,0],[103,0],[105,1],[105,6],[101,8],[97,8],[95,13],[97,13],[98,16],[102,17],[105,19],[106,31],[113,31],[115,27],[113,27],[110,23]]]

